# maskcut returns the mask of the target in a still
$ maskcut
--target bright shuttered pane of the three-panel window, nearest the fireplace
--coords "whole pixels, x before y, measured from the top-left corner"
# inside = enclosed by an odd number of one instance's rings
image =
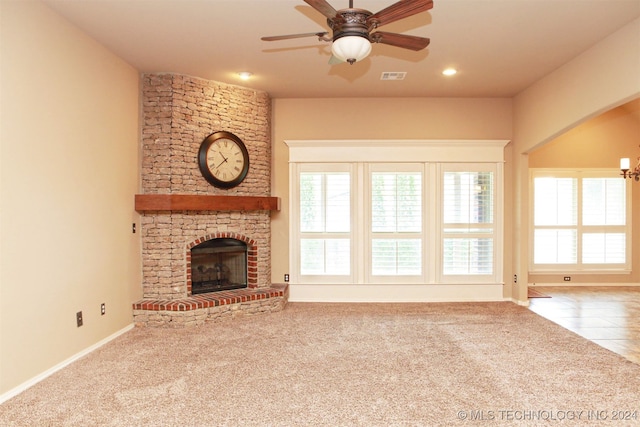
[[[300,174],[300,274],[348,275],[351,259],[351,177],[348,172]]]

